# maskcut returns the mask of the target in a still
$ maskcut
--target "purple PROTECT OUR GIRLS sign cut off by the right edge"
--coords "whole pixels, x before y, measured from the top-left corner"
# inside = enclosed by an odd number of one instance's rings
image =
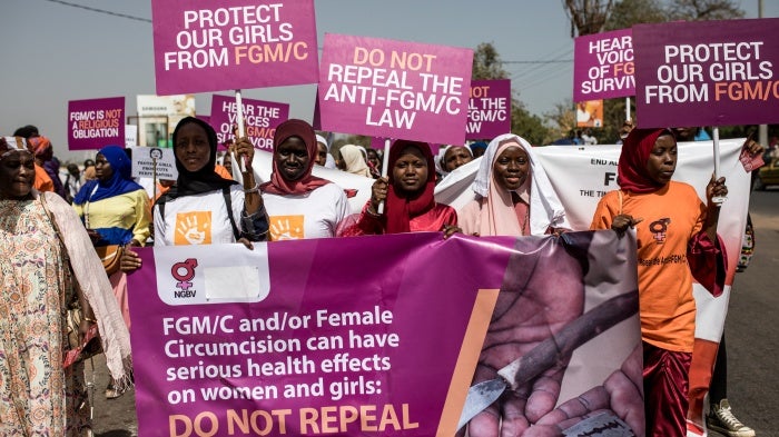
[[[639,127],[779,120],[777,27],[778,18],[635,26]]]

